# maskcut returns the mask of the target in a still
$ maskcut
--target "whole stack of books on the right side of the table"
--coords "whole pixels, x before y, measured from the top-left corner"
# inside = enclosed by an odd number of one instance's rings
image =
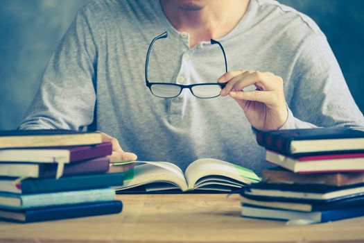
[[[241,193],[241,215],[312,224],[364,216],[364,132],[346,128],[259,131],[278,167]]]

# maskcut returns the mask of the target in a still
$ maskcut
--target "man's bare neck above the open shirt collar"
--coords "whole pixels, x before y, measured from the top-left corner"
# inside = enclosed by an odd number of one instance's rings
[[[168,21],[177,31],[189,33],[190,47],[227,35],[239,24],[249,4],[249,0],[211,0],[196,10],[182,8],[173,0],[160,2]]]

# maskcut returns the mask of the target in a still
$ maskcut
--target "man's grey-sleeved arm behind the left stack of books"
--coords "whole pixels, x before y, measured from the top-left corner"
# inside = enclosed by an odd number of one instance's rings
[[[92,123],[96,44],[85,10],[76,15],[46,67],[42,84],[19,129],[80,130]]]

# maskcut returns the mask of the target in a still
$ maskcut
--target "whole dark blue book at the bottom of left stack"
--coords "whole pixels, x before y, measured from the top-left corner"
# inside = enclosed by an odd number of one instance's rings
[[[30,210],[0,209],[0,218],[24,223],[55,219],[71,219],[96,215],[110,215],[121,212],[121,201],[104,201],[97,203],[81,203],[69,206],[35,208]]]

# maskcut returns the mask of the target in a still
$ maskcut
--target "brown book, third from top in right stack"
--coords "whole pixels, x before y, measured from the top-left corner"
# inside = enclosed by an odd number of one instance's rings
[[[270,184],[355,185],[364,183],[364,173],[297,174],[281,167],[263,169],[262,181]]]

